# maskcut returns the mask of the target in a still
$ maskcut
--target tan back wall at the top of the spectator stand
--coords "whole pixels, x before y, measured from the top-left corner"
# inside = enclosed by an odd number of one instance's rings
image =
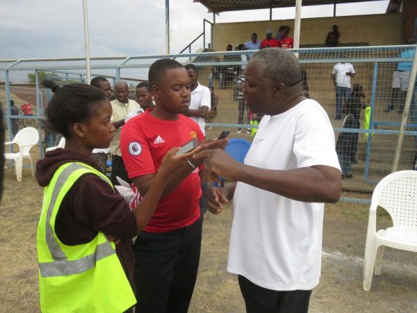
[[[368,42],[372,46],[402,43],[402,15],[393,13],[302,19],[300,45],[324,46],[327,33],[332,31],[334,24],[338,25],[341,33],[341,43]],[[240,43],[250,40],[252,33],[257,33],[258,39],[262,40],[267,29],[272,29],[275,35],[281,25],[290,26],[290,35],[293,37],[294,19],[215,24],[214,49],[224,51],[227,44],[237,47]]]

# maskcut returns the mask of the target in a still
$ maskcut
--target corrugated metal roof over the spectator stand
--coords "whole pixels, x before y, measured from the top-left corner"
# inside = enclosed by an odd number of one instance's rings
[[[193,0],[202,3],[209,12],[221,13],[238,10],[256,10],[265,8],[288,8],[295,6],[295,0]],[[302,6],[318,6],[323,4],[355,3],[382,0],[302,0]]]

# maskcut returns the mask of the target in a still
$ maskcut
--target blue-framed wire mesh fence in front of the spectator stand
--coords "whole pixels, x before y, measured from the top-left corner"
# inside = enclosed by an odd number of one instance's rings
[[[343,162],[349,158],[343,179],[343,190],[348,195],[343,200],[368,202],[375,184],[391,172],[408,86],[407,73],[398,72],[398,64],[410,65],[413,58],[404,51],[415,48],[416,46],[388,46],[293,50],[302,67],[304,93],[311,99],[316,99],[327,111],[335,131],[338,155]],[[112,85],[115,81],[126,81],[134,99],[136,84],[147,81],[149,66],[154,61],[169,57],[184,65],[193,63],[198,69],[199,82],[213,87],[213,93],[218,98],[217,107],[212,108],[208,114],[206,136],[215,138],[222,129],[230,129],[232,137],[252,141],[251,129],[256,129],[256,122],[261,117],[250,113],[239,95],[240,77],[252,54],[254,51],[227,51],[91,58],[91,76],[106,77]],[[335,69],[338,63],[342,67]],[[346,67],[346,63],[350,63],[353,70]],[[338,74],[340,68],[350,72],[345,73],[344,77],[338,77],[339,80],[345,79],[345,82],[350,79],[350,90],[334,86],[332,72],[337,72],[338,68]],[[6,111],[10,139],[12,121],[15,119],[19,120],[19,127],[31,124],[42,131],[44,110],[51,96],[49,90],[40,86],[44,77],[54,79],[60,84],[85,82],[83,58],[0,60],[0,71],[0,81],[4,81],[0,83],[0,101]],[[417,96],[417,88],[414,91]],[[336,104],[336,97],[341,97],[339,104]],[[11,115],[10,99],[18,107],[31,103],[33,115]],[[404,132],[398,170],[411,169],[415,163],[415,99],[413,97],[411,101],[410,118]],[[337,106],[341,109],[339,113],[336,113]],[[365,120],[365,116],[368,120]],[[46,134],[40,142],[41,151],[44,150],[43,143],[53,145],[51,141],[53,138]]]

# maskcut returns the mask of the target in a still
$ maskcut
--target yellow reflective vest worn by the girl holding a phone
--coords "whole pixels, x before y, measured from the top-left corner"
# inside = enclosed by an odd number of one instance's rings
[[[36,243],[42,312],[124,312],[136,303],[114,243],[99,232],[89,243],[67,246],[55,232],[63,198],[82,175],[95,174],[84,163],[65,163],[44,188]]]

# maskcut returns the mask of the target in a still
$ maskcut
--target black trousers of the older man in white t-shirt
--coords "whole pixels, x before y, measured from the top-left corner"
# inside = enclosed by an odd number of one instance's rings
[[[276,291],[259,287],[242,275],[238,280],[247,313],[309,312],[311,290]]]

